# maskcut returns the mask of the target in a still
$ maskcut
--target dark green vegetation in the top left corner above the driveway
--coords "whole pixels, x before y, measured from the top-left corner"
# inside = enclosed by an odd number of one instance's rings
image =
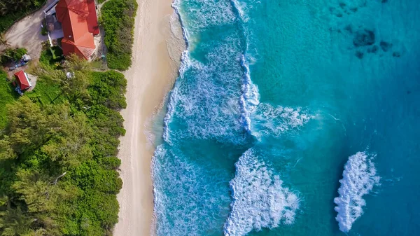
[[[5,32],[15,20],[31,13],[45,4],[46,0],[6,0],[0,1],[0,33]]]

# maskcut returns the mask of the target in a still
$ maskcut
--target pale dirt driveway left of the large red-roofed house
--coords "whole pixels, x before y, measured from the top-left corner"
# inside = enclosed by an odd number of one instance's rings
[[[27,15],[8,29],[6,40],[10,46],[26,48],[32,58],[38,58],[41,55],[41,43],[48,40],[48,36],[41,35],[41,22],[44,18],[43,10],[50,6],[53,1],[48,0],[43,8],[31,15]]]

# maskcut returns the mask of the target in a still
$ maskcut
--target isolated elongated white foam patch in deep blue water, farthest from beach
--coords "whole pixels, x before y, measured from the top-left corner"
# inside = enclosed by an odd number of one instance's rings
[[[354,221],[363,214],[366,204],[363,195],[370,193],[379,184],[380,178],[372,162],[373,158],[374,155],[358,152],[351,155],[344,166],[343,179],[339,181],[339,197],[334,199],[337,204],[334,209],[338,212],[335,219],[342,232],[349,232]]]

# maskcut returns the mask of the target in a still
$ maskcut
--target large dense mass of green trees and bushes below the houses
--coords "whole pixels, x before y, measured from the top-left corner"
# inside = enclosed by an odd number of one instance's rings
[[[0,235],[103,236],[118,221],[127,82],[116,71],[92,72],[76,55],[63,68],[40,63],[35,90],[9,98],[0,131]]]

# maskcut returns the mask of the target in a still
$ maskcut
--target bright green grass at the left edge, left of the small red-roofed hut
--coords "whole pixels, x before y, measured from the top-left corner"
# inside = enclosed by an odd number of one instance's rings
[[[0,71],[0,130],[6,125],[6,104],[10,104],[18,99],[18,93],[13,89],[13,86],[6,81],[7,74]]]

